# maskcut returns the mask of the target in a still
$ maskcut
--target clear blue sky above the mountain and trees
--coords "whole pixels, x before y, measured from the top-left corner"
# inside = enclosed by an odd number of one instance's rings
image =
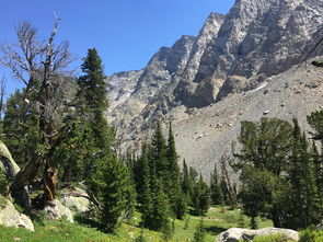
[[[79,67],[95,47],[105,73],[137,70],[161,46],[182,35],[197,35],[210,12],[227,13],[234,0],[0,0],[0,43],[15,43],[14,24],[28,20],[41,37],[48,36],[54,12],[61,18],[58,39],[68,41]],[[8,92],[21,87],[5,74]]]

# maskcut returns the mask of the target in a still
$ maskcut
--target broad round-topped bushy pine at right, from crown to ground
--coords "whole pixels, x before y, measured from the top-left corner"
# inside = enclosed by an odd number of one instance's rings
[[[255,218],[259,212],[266,212],[270,215],[275,227],[281,227],[282,211],[279,209],[280,203],[276,203],[279,197],[274,196],[273,191],[280,194],[276,187],[281,182],[291,154],[292,126],[277,118],[242,122],[238,140],[242,149],[240,153],[234,153],[238,161],[231,164],[235,171],[242,171],[240,197],[245,214]],[[259,187],[256,186],[257,183]],[[261,191],[267,193],[263,196]],[[267,199],[264,200],[264,197]]]

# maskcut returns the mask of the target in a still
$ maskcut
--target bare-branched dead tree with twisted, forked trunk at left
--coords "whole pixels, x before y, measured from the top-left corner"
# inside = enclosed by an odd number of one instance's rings
[[[64,125],[65,79],[66,68],[72,61],[67,42],[55,45],[55,37],[59,26],[59,19],[55,19],[54,30],[45,41],[37,39],[37,30],[24,21],[15,28],[19,45],[4,43],[0,50],[0,64],[8,67],[15,78],[25,84],[24,100],[27,108],[38,115],[38,129],[43,149],[33,154],[26,165],[16,174],[11,185],[12,195],[19,200],[23,191],[34,180],[38,171],[43,171],[44,204],[55,199],[57,162],[53,160],[55,149],[61,143],[67,134]],[[36,87],[41,83],[41,88]],[[33,93],[36,100],[28,101]],[[41,170],[42,169],[42,170]]]

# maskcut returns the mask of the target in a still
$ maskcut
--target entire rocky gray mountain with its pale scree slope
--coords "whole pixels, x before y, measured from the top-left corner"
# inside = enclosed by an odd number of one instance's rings
[[[316,0],[237,0],[142,70],[108,77],[107,118],[123,146],[137,147],[157,120],[172,119],[180,154],[208,175],[242,119],[296,116],[308,128],[305,115],[323,106],[322,70],[297,67],[322,38],[322,12]],[[319,46],[308,58],[321,56]]]

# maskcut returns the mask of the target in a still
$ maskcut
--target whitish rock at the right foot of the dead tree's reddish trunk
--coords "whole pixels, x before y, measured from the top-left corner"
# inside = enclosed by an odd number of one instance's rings
[[[45,211],[51,220],[58,220],[66,217],[68,221],[74,221],[71,210],[57,199],[50,201],[50,204],[45,207]]]

